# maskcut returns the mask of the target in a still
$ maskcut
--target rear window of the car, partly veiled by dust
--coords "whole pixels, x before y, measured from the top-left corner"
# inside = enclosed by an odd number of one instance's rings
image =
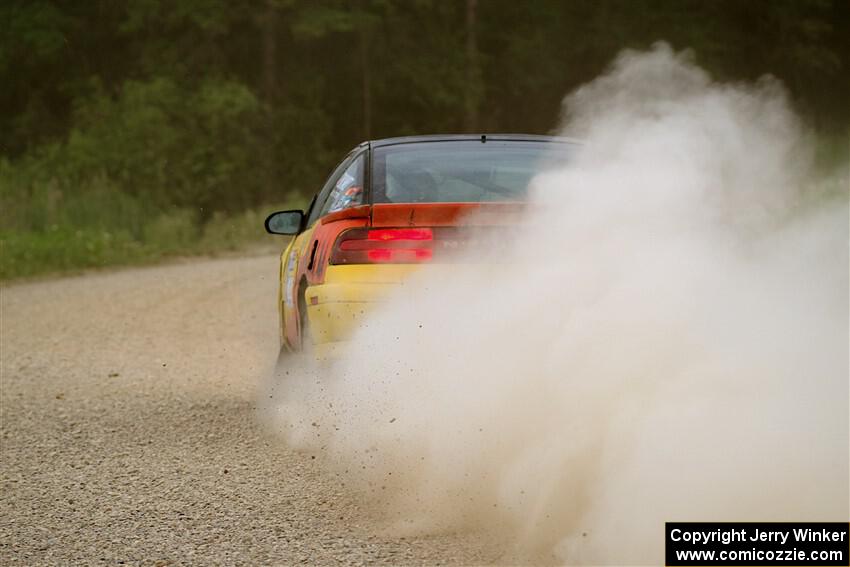
[[[569,158],[571,144],[441,141],[375,148],[374,203],[523,201],[535,174]]]

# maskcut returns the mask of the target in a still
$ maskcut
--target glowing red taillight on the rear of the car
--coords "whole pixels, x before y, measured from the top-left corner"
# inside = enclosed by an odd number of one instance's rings
[[[416,264],[434,256],[430,228],[353,228],[336,240],[331,264]]]

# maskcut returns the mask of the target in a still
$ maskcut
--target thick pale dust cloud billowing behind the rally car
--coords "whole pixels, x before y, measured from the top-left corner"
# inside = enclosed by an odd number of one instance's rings
[[[659,44],[569,95],[560,133],[586,145],[519,234],[291,372],[288,442],[394,533],[485,530],[507,562],[661,564],[665,521],[845,521],[847,178],[814,177],[782,86]]]

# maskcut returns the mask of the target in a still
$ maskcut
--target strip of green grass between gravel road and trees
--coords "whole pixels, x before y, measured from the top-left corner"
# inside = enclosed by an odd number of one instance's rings
[[[52,224],[44,230],[0,230],[0,280],[14,280],[102,268],[142,265],[164,259],[217,255],[255,247],[280,249],[283,237],[266,234],[268,206],[233,215],[216,214],[198,227],[194,211],[176,209],[130,228]]]

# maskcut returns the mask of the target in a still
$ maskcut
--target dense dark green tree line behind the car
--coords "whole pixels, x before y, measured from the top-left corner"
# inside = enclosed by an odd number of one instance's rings
[[[850,124],[847,0],[5,0],[0,21],[0,230],[74,196],[202,225],[312,192],[363,139],[549,132],[657,40]]]

